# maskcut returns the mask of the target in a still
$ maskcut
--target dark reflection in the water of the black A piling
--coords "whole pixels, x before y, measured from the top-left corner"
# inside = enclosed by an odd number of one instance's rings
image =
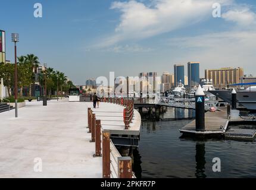
[[[195,145],[195,162],[196,162],[196,170],[195,177],[196,178],[206,178],[205,175],[205,144],[204,143],[196,143]]]

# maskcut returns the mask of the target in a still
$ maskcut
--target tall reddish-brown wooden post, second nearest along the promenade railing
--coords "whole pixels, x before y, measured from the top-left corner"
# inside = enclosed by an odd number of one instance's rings
[[[102,178],[110,178],[110,132],[102,132]]]

